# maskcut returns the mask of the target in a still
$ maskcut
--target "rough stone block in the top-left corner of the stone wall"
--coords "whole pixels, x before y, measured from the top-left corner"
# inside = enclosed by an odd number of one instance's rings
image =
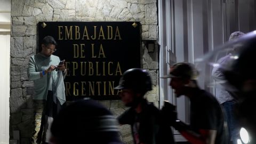
[[[25,0],[12,0],[11,15],[21,16]]]

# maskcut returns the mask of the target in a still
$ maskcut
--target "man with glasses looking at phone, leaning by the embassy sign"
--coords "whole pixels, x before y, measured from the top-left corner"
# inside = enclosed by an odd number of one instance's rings
[[[31,56],[28,64],[28,78],[34,81],[35,130],[31,143],[47,143],[49,128],[60,106],[66,101],[63,78],[66,76],[65,60],[53,55],[56,41],[46,36],[42,41],[42,50]],[[58,70],[57,70],[58,68]]]

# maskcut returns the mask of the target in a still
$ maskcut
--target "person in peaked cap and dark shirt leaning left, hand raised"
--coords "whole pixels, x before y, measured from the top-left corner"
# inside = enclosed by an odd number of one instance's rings
[[[226,126],[222,109],[213,95],[197,85],[198,71],[188,62],[175,63],[170,74],[162,78],[171,78],[170,86],[177,98],[181,95],[190,100],[190,124],[177,119],[173,109],[162,108],[162,113],[176,130],[190,143],[227,143]],[[171,103],[169,103],[171,105]]]

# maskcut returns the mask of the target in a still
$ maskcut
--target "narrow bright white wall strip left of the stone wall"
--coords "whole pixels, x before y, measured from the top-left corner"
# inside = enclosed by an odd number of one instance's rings
[[[0,144],[9,143],[11,0],[0,0]]]

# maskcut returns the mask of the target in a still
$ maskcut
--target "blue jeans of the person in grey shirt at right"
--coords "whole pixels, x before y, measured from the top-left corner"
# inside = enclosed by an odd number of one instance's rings
[[[229,141],[236,142],[239,138],[239,127],[237,118],[234,116],[235,101],[226,101],[222,103],[228,122]]]

